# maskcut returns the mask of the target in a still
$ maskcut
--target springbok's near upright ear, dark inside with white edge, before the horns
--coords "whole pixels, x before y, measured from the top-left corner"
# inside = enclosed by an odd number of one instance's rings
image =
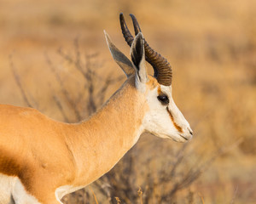
[[[145,49],[143,33],[139,32],[131,44],[131,60],[136,71],[136,77],[140,82],[148,82],[148,74],[145,65]]]

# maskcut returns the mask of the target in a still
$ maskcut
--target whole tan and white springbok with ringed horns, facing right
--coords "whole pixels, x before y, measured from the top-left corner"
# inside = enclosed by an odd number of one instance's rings
[[[88,120],[67,124],[31,108],[0,105],[1,204],[61,203],[107,173],[144,132],[177,142],[192,138],[172,99],[171,66],[148,46],[134,15],[135,38],[119,17],[131,61],[105,37],[127,80]]]

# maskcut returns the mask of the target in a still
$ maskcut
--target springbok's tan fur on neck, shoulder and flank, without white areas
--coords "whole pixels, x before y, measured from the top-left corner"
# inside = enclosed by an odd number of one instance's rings
[[[150,77],[148,88],[154,86]],[[135,144],[148,111],[130,77],[89,120],[56,122],[31,108],[0,105],[0,173],[20,178],[41,203],[63,185],[90,184]]]

